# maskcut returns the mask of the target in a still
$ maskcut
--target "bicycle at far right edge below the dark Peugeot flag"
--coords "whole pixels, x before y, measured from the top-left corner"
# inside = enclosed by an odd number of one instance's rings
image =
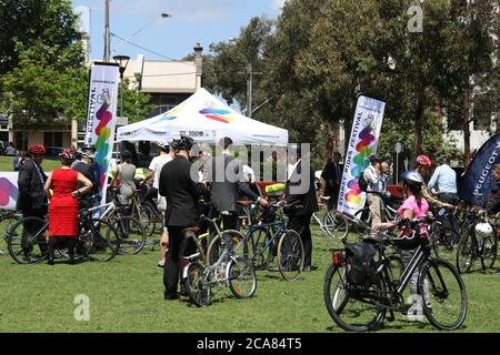
[[[462,237],[457,247],[457,268],[463,274],[470,271],[476,260],[481,260],[483,271],[493,268],[498,251],[497,221],[489,219],[486,213],[473,210],[464,211],[466,220],[462,225]],[[489,223],[491,233],[477,236],[476,226],[479,223]]]

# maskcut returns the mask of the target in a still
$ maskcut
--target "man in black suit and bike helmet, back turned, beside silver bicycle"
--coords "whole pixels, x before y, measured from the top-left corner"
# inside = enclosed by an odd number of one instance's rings
[[[159,192],[167,199],[164,225],[169,232],[169,250],[164,265],[163,284],[164,300],[178,298],[179,273],[183,256],[196,253],[196,244],[192,239],[199,221],[198,203],[206,191],[203,183],[191,179],[191,162],[189,151],[194,141],[188,136],[181,136],[172,142],[176,158],[164,164],[160,173]],[[189,296],[183,281],[180,281],[181,291],[179,301],[188,301]]]

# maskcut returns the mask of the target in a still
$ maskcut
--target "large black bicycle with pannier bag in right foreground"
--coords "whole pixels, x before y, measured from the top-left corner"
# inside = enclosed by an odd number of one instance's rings
[[[407,221],[401,221],[399,226]],[[420,229],[420,222],[411,222],[413,231]],[[411,261],[401,268],[397,255],[388,257],[384,250],[389,245],[401,246],[401,239],[387,232],[377,232],[377,241],[371,240],[378,254],[374,261],[373,275],[364,285],[350,281],[348,268],[348,245],[344,248],[330,250],[332,264],[327,271],[323,285],[323,297],[328,313],[343,329],[364,332],[377,328],[383,320],[394,320],[394,311],[403,312],[403,293],[413,273],[419,272],[417,290],[413,298],[421,307],[428,321],[438,329],[453,331],[459,328],[467,315],[466,286],[458,271],[446,260],[431,257],[430,245],[418,235],[417,250]],[[398,264],[398,265],[397,265]],[[402,270],[402,272],[401,272]],[[400,273],[400,277],[396,274]],[[389,316],[387,312],[389,311]]]

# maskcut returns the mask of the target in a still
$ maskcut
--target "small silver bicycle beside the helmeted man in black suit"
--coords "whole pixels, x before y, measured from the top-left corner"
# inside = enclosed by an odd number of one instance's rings
[[[198,253],[184,257],[183,277],[192,302],[199,307],[208,306],[212,303],[214,292],[224,286],[229,286],[238,298],[252,297],[257,291],[256,272],[250,261],[237,252],[239,247],[244,248],[243,235],[233,230],[221,232],[218,226],[220,216],[202,219],[214,226],[216,239],[221,243],[217,245],[216,253],[212,240],[207,255],[203,254],[201,243],[197,243]],[[191,237],[198,242],[194,233]]]

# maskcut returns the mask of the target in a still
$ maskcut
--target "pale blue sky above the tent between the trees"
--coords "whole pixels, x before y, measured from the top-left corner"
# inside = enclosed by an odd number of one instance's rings
[[[111,57],[179,60],[192,53],[197,42],[208,52],[210,43],[239,37],[251,18],[277,18],[284,1],[110,0],[110,30],[116,34],[111,36]],[[73,9],[90,8],[90,59],[103,57],[104,4],[104,0],[72,0]],[[171,17],[161,18],[161,13]]]

